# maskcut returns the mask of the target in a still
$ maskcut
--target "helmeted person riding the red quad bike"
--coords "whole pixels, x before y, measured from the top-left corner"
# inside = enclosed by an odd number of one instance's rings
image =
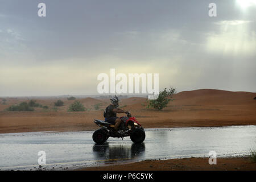
[[[104,117],[105,121],[108,123],[112,123],[112,125],[115,125],[115,131],[118,131],[118,127],[121,124],[122,120],[117,117],[117,113],[128,113],[128,111],[124,111],[122,109],[119,109],[119,99],[117,96],[110,99],[112,104],[110,104],[108,107],[106,107],[104,111]]]

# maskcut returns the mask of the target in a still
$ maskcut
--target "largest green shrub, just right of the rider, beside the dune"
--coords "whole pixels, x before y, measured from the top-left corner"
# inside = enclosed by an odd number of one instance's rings
[[[170,88],[169,90],[165,88],[162,92],[159,92],[158,98],[156,98],[156,100],[148,100],[147,108],[162,110],[164,107],[167,107],[167,104],[169,101],[171,101],[170,98],[174,93],[174,88]]]

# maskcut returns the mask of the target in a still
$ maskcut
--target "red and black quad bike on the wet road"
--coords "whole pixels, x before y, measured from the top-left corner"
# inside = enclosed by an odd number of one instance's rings
[[[130,112],[127,113],[127,117],[120,117],[122,122],[119,126],[119,132],[115,131],[114,125],[104,120],[94,119],[96,125],[102,127],[94,131],[93,141],[97,144],[104,143],[109,137],[123,138],[130,137],[134,143],[142,143],[146,137],[145,131],[141,124],[132,117]]]

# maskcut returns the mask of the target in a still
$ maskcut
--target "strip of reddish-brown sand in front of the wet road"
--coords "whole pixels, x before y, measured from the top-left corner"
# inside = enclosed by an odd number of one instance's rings
[[[170,160],[144,160],[142,162],[119,164],[114,166],[88,167],[84,171],[255,171],[256,163],[250,158],[217,159],[216,165],[210,165],[208,158],[185,158]]]

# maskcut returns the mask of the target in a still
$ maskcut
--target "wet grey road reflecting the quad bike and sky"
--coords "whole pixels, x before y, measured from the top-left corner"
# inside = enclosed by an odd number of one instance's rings
[[[75,169],[146,159],[249,155],[256,148],[256,126],[147,129],[142,144],[109,138],[94,144],[93,131],[0,134],[0,169],[38,169],[39,151],[46,169]]]

